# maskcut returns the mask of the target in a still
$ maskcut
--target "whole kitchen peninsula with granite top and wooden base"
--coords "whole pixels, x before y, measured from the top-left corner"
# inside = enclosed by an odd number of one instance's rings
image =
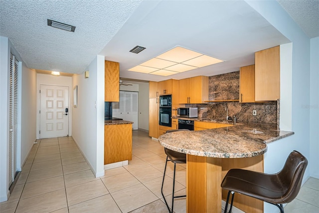
[[[264,172],[267,143],[293,135],[276,124],[236,124],[202,131],[172,132],[159,138],[163,147],[186,154],[186,210],[221,212],[225,200],[220,184],[232,168]],[[244,212],[263,212],[263,202],[236,196],[234,206]]]

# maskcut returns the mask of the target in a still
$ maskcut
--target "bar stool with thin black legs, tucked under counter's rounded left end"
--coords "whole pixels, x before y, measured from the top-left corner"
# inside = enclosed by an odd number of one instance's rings
[[[169,132],[176,132],[176,131],[189,131],[188,129],[178,129],[178,130],[167,130],[166,133]],[[163,182],[161,183],[161,195],[163,196],[163,199],[165,201],[166,207],[168,209],[169,213],[173,212],[174,208],[174,199],[175,198],[183,198],[186,197],[186,195],[182,196],[174,196],[174,189],[175,189],[175,170],[176,170],[176,164],[185,164],[186,163],[186,154],[172,151],[169,149],[164,148],[165,154],[166,154],[166,163],[165,163],[165,169],[164,169],[164,176],[163,176]],[[164,178],[165,178],[165,173],[166,173],[166,166],[167,166],[167,161],[171,161],[174,164],[174,175],[173,175],[173,193],[172,193],[172,201],[171,201],[171,211],[169,210],[168,204],[166,202],[166,199],[163,194],[163,185],[164,185]]]

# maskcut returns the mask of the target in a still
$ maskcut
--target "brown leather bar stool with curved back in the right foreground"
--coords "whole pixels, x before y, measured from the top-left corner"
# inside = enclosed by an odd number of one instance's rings
[[[223,189],[232,193],[229,213],[233,206],[234,193],[240,193],[273,204],[284,213],[283,204],[292,202],[299,193],[304,177],[307,159],[299,152],[293,151],[288,156],[284,168],[276,174],[265,174],[242,169],[231,169],[221,183]]]

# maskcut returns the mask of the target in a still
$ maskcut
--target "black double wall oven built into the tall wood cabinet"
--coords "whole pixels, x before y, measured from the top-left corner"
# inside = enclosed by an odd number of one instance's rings
[[[171,127],[171,95],[160,95],[159,124]]]

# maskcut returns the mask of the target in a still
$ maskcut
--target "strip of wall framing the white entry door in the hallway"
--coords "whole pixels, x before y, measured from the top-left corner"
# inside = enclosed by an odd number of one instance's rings
[[[36,91],[40,90],[40,85],[54,85],[54,86],[67,86],[69,88],[69,136],[72,135],[72,77],[68,76],[53,76],[48,74],[37,74],[37,84],[36,84]],[[36,112],[40,110],[40,93],[36,92]],[[40,130],[40,114],[36,114],[36,138],[39,139],[39,130]]]

